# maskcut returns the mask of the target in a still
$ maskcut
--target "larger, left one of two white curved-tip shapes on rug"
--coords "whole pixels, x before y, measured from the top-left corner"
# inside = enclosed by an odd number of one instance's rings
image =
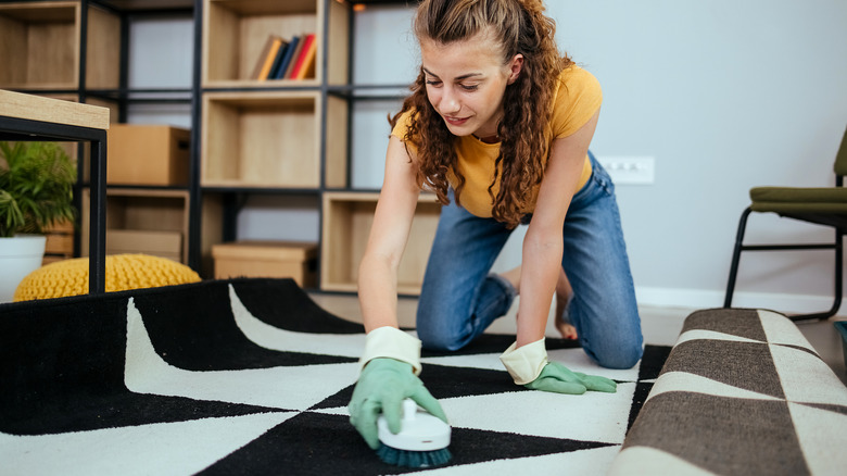
[[[358,378],[358,364],[194,372],[162,360],[132,298],[127,303],[126,387],[138,393],[306,410]]]

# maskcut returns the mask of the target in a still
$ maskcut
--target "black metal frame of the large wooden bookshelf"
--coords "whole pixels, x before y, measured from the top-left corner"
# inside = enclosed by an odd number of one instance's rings
[[[17,2],[20,0],[0,0],[0,3]],[[50,0],[30,0],[33,2],[50,1]],[[287,82],[285,85],[274,84],[269,82],[267,86],[253,86],[249,88],[240,87],[203,87],[201,80],[202,71],[202,42],[203,42],[203,0],[78,0],[81,5],[81,35],[80,35],[80,64],[79,67],[79,84],[76,89],[46,89],[46,88],[27,88],[23,92],[30,93],[65,93],[76,95],[80,102],[86,102],[87,99],[100,99],[104,101],[114,102],[117,104],[118,110],[118,123],[125,123],[127,120],[127,109],[130,104],[141,103],[155,103],[155,104],[190,104],[191,105],[191,147],[189,151],[190,164],[189,164],[189,183],[186,187],[156,187],[156,186],[137,186],[137,185],[119,185],[110,184],[109,187],[121,188],[135,188],[135,189],[187,189],[189,192],[188,200],[188,265],[198,272],[201,272],[202,267],[202,216],[203,216],[203,199],[204,196],[218,196],[223,203],[223,229],[220,230],[222,238],[226,240],[236,239],[236,222],[238,213],[243,208],[245,200],[250,196],[260,195],[275,195],[281,197],[315,197],[317,199],[317,213],[318,213],[318,241],[324,236],[324,203],[321,197],[325,192],[344,191],[344,192],[362,192],[372,193],[378,190],[374,189],[352,189],[351,173],[352,173],[352,148],[351,146],[351,125],[352,115],[354,112],[353,104],[358,101],[388,101],[388,100],[402,100],[407,96],[408,84],[354,84],[353,83],[353,64],[355,61],[353,45],[355,41],[355,15],[357,14],[356,5],[406,5],[414,7],[417,0],[347,0],[349,8],[351,9],[349,17],[349,58],[347,58],[347,77],[345,84],[330,84],[328,72],[328,54],[323,54],[323,77],[319,78],[317,85],[296,85],[291,82]],[[316,0],[323,1],[323,8],[325,15],[323,17],[323,45],[329,45],[330,24],[329,24],[329,9],[330,3],[336,0]],[[119,63],[119,86],[114,89],[89,89],[85,83],[86,79],[86,63],[87,63],[87,48],[86,38],[88,35],[87,24],[87,9],[90,5],[97,5],[98,8],[105,9],[121,17],[121,63]],[[192,59],[192,77],[191,86],[188,88],[174,87],[174,88],[130,88],[128,87],[128,73],[129,73],[129,25],[134,18],[141,16],[176,16],[176,15],[190,15],[192,17],[193,28],[193,59]],[[347,148],[346,148],[346,177],[344,187],[328,187],[326,184],[327,176],[327,162],[326,162],[326,143],[327,131],[326,127],[321,127],[319,131],[319,185],[317,188],[269,188],[269,187],[205,187],[201,184],[201,136],[202,136],[202,96],[204,92],[218,92],[218,91],[273,91],[285,89],[287,91],[318,91],[320,95],[320,101],[318,108],[320,108],[321,117],[327,116],[328,111],[328,98],[336,97],[346,100],[347,108]],[[83,145],[79,146],[79,156],[84,156]],[[81,197],[84,188],[91,187],[92,181],[84,179],[83,167],[79,167],[79,178],[77,185],[77,205],[79,205],[78,197]],[[105,187],[105,180],[102,184]],[[93,196],[93,193],[92,193]],[[102,204],[103,210],[105,208],[105,193],[103,195]],[[92,215],[93,218],[93,215]],[[104,220],[104,213],[103,213]],[[103,231],[105,225],[103,223]],[[103,239],[104,246],[104,239]],[[94,248],[91,248],[92,250]],[[76,233],[75,239],[75,255],[79,255],[80,240],[79,233]],[[320,283],[319,270],[318,270],[318,283]],[[319,291],[319,289],[315,289]]]

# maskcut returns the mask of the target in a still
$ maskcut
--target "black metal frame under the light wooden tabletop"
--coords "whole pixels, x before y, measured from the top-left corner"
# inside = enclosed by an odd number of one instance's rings
[[[91,145],[88,292],[105,292],[106,130],[0,115],[0,139],[88,141]]]

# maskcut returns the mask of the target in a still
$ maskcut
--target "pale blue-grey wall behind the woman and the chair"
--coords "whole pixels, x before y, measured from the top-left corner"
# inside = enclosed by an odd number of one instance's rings
[[[847,2],[547,0],[557,38],[604,88],[598,155],[652,155],[656,181],[620,185],[633,276],[643,303],[722,305],[737,220],[758,185],[829,186],[847,126]],[[356,80],[414,78],[409,10],[357,18]],[[364,109],[364,108],[363,108]],[[381,183],[383,110],[362,112],[354,185]],[[364,124],[367,120],[367,124]],[[759,215],[753,241],[831,238]],[[520,262],[520,231],[496,264]],[[736,305],[829,309],[832,254],[745,253]]]

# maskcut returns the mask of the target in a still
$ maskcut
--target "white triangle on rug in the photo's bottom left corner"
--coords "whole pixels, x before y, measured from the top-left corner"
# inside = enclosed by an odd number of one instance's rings
[[[0,434],[0,472],[27,476],[194,474],[294,415],[263,413],[58,435]]]

